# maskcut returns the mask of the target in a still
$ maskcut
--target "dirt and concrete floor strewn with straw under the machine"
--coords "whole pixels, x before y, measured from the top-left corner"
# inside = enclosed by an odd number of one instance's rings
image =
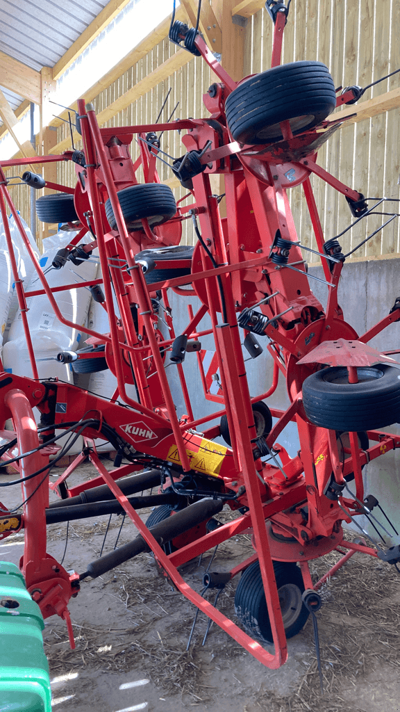
[[[106,461],[111,466],[110,461]],[[78,483],[93,476],[81,466]],[[57,475],[60,470],[56,471]],[[11,479],[0,475],[0,481]],[[10,494],[11,493],[11,494]],[[2,495],[4,490],[2,491]],[[53,497],[53,495],[51,495]],[[2,500],[19,503],[19,487]],[[142,511],[144,520],[150,510]],[[217,518],[230,516],[225,509]],[[85,570],[91,560],[135,537],[134,525],[112,515],[48,528],[48,551],[67,570]],[[108,527],[108,529],[107,529]],[[107,535],[106,534],[107,530]],[[3,561],[18,562],[22,535],[0,545]],[[230,570],[251,555],[246,534],[220,545],[211,570]],[[213,552],[181,567],[201,591]],[[312,564],[317,580],[338,559],[331,553]],[[229,583],[218,607],[237,622]],[[214,601],[215,592],[209,594]],[[70,601],[76,649],[68,645],[65,624],[46,620],[44,641],[57,712],[396,712],[400,711],[400,575],[394,567],[355,555],[322,589],[317,614],[324,693],[320,693],[312,622],[288,642],[288,662],[264,668],[219,627],[199,615],[189,651],[186,646],[195,609],[157,572],[143,554],[104,577],[83,582]],[[271,650],[272,651],[272,650]]]

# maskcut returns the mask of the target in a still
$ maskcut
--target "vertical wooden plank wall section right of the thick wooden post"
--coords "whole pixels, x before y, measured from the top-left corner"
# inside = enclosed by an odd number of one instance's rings
[[[399,3],[391,0],[293,0],[285,28],[283,62],[324,62],[335,86],[366,86],[400,68]],[[268,69],[273,24],[260,10],[248,21],[245,75]],[[366,91],[363,100],[399,86],[399,74]],[[357,111],[357,105],[354,106]],[[365,197],[391,197],[385,212],[399,209],[399,110],[342,127],[320,150],[318,163]],[[325,239],[337,236],[351,222],[347,203],[320,179],[312,179]],[[302,188],[290,191],[290,202],[302,244],[315,247]],[[369,205],[373,202],[369,201]],[[371,216],[340,238],[344,253],[372,234],[388,216]],[[352,258],[388,255],[400,251],[399,220],[395,219]],[[310,262],[318,261],[310,256]]]

